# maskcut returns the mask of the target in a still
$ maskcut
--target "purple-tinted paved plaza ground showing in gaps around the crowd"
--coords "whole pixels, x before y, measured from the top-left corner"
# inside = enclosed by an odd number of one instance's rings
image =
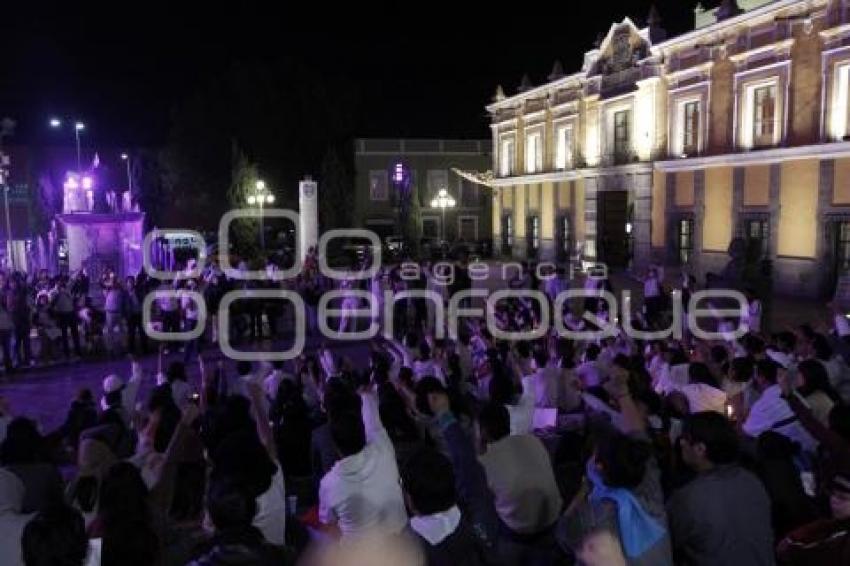
[[[668,283],[674,281],[676,275],[673,271],[668,272],[666,274]],[[623,289],[630,289],[635,297],[641,296],[640,283],[625,274],[613,275],[612,283],[617,293]],[[579,285],[580,282],[575,284]],[[494,273],[490,280],[476,285],[483,285],[492,290],[498,287],[504,288],[505,283],[501,281],[499,273]],[[769,328],[773,330],[803,322],[817,327],[818,324],[827,323],[828,320],[828,310],[824,301],[775,298],[767,314]],[[275,345],[266,342],[255,347],[269,349],[273,346]],[[318,346],[319,343],[313,340],[308,342],[306,349],[309,351]],[[334,348],[340,355],[349,356],[356,363],[365,363],[368,355],[368,347],[364,342],[337,343]],[[213,347],[207,348],[205,358],[210,360],[211,368],[218,360],[223,359],[217,348]],[[166,356],[164,366],[172,360],[179,359],[182,359],[182,354],[179,353]],[[232,360],[225,360],[225,362],[226,370],[235,372],[235,362]],[[142,359],[142,363],[146,372],[146,383],[140,399],[146,397],[145,392],[153,385],[157,371],[157,357],[153,354],[149,355]],[[191,383],[197,385],[199,381],[197,364],[192,362],[187,369]],[[50,430],[62,423],[68,405],[77,391],[88,387],[96,397],[99,397],[101,381],[106,375],[115,373],[122,378],[127,378],[129,370],[130,364],[126,357],[113,361],[83,360],[71,364],[34,368],[4,378],[0,382],[0,395],[9,400],[14,414],[35,418],[44,430]]]

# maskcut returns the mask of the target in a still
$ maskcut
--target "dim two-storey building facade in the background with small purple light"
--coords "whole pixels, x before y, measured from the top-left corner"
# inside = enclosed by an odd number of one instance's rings
[[[357,139],[354,159],[354,226],[382,238],[401,235],[401,195],[409,194],[412,237],[489,242],[489,191],[454,170],[489,169],[490,140]],[[455,203],[445,215],[431,207],[442,189]]]

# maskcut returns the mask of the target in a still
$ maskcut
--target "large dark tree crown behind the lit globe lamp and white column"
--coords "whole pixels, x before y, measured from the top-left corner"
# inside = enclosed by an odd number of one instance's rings
[[[294,58],[225,62],[172,112],[163,161],[168,212],[175,222],[216,227],[234,178],[234,141],[274,188],[275,204],[297,207],[298,181],[321,170],[331,140],[354,131],[355,93],[345,77],[319,74]]]

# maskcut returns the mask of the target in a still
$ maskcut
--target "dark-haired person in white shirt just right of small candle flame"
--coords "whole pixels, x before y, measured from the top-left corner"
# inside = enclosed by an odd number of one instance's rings
[[[773,360],[759,360],[756,364],[756,386],[761,395],[750,409],[743,431],[748,436],[758,438],[763,432],[772,430],[798,443],[803,450],[812,451],[817,442],[806,432],[788,402],[782,398],[782,389],[778,383],[779,371],[779,366]]]

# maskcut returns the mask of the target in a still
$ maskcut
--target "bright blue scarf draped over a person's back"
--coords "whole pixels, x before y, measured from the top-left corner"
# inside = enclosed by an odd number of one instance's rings
[[[617,504],[617,522],[620,541],[629,559],[637,558],[661,540],[667,531],[649,513],[644,511],[632,492],[622,487],[608,487],[590,460],[587,463],[587,478],[593,484],[590,500],[599,502],[610,499]]]

